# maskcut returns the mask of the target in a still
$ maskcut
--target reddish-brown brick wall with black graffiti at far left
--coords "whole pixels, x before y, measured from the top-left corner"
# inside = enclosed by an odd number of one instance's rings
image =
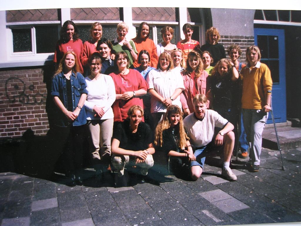
[[[0,71],[0,137],[20,137],[27,129],[46,134],[46,97],[42,69]]]

